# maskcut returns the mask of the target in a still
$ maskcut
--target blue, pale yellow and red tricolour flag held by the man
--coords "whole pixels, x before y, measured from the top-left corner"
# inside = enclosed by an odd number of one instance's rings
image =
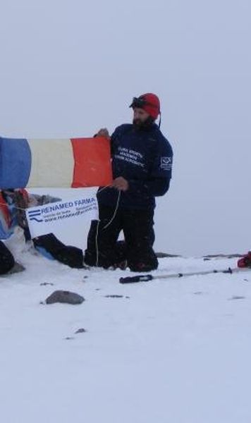
[[[110,143],[104,137],[0,137],[0,189],[98,187],[111,180]]]

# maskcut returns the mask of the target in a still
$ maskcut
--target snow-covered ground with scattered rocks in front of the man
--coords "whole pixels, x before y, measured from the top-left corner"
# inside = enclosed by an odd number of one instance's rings
[[[154,275],[236,259],[159,262]],[[1,422],[251,421],[251,271],[125,286],[129,271],[22,263],[0,278]],[[57,289],[85,302],[40,303]]]

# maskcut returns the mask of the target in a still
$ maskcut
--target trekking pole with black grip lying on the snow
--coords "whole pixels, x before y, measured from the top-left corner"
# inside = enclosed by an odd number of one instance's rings
[[[148,275],[136,275],[136,276],[127,276],[125,278],[120,278],[120,283],[137,283],[137,282],[147,282],[153,281],[155,279],[170,279],[170,278],[182,278],[183,276],[200,276],[200,275],[209,275],[209,274],[233,274],[242,271],[250,271],[250,268],[243,268],[240,269],[238,267],[231,269],[220,269],[220,270],[206,270],[206,271],[192,271],[188,273],[176,273],[176,274],[169,274],[169,275],[157,275],[153,276],[151,274]]]

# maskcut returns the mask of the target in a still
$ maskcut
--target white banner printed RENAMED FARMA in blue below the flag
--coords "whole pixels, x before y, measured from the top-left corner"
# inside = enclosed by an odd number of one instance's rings
[[[30,207],[26,211],[30,235],[35,238],[54,232],[55,224],[71,224],[73,219],[98,220],[99,207],[95,195],[80,196],[66,201],[57,201],[42,206]]]

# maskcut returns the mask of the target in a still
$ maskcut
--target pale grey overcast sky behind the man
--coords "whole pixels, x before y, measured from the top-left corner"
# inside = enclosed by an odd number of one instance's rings
[[[0,0],[0,135],[90,136],[161,99],[156,249],[251,249],[250,0]]]

